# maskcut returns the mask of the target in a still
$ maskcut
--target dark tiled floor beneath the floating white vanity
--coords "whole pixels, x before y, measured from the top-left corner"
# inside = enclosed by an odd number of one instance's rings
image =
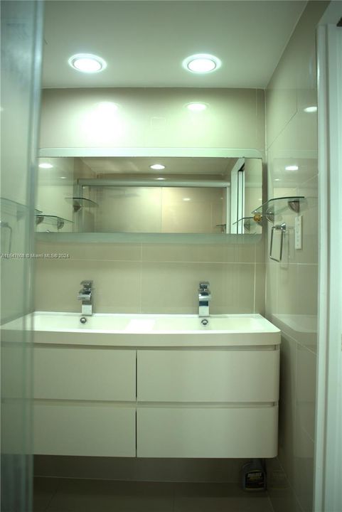
[[[273,512],[267,493],[236,484],[36,478],[33,512]]]

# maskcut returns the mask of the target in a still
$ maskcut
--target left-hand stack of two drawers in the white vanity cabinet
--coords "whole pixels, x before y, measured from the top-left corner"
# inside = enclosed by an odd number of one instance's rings
[[[35,346],[34,453],[135,457],[136,352]]]

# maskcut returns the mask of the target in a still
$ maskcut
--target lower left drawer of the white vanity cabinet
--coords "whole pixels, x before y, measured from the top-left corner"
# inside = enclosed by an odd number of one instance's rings
[[[135,407],[36,402],[33,414],[35,454],[135,457]]]

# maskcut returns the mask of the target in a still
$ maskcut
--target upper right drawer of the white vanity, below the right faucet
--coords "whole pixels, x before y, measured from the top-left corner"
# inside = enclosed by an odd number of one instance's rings
[[[277,402],[279,350],[138,351],[138,400]]]

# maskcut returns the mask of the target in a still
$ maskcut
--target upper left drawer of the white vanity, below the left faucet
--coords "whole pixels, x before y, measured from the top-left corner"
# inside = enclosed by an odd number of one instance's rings
[[[35,347],[33,396],[60,400],[135,400],[135,351]]]

